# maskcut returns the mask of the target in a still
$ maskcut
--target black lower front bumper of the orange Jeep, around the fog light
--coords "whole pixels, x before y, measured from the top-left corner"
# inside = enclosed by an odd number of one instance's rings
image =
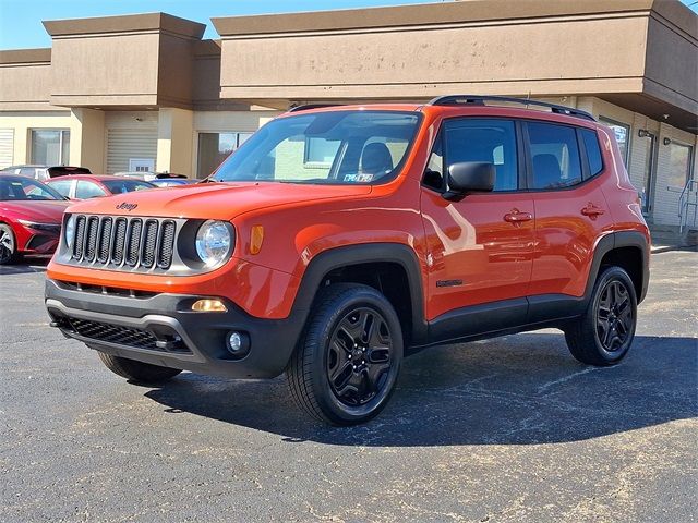
[[[125,294],[125,295],[124,295]],[[296,346],[302,321],[260,319],[224,300],[228,312],[191,309],[198,296],[80,290],[46,280],[51,325],[91,349],[164,367],[234,378],[273,378],[281,374]],[[215,297],[215,296],[213,296]],[[250,340],[250,352],[236,358],[226,339],[231,330]]]

